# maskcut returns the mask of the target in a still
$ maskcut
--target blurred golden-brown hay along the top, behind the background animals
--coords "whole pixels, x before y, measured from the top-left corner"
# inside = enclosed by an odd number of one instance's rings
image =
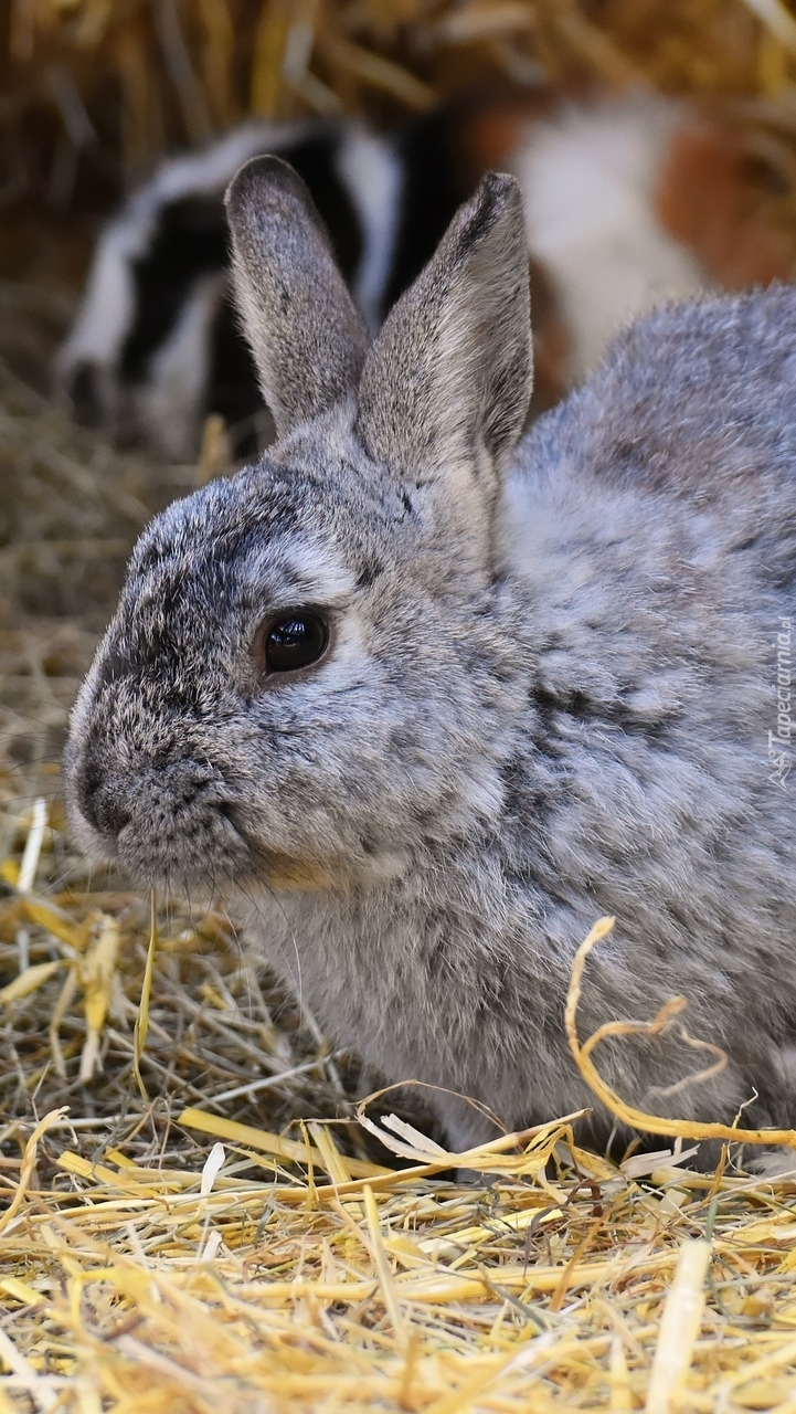
[[[735,103],[793,163],[782,0],[6,0],[4,25],[0,270],[14,279],[74,284],[81,235],[130,182],[254,113],[386,124],[472,83],[648,82]]]

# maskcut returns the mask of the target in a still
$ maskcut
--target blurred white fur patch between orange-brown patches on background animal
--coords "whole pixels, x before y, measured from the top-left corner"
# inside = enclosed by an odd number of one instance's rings
[[[529,126],[515,154],[529,247],[550,276],[571,334],[573,380],[597,366],[631,318],[707,286],[652,208],[660,163],[680,122],[673,103],[652,96],[573,107]]]

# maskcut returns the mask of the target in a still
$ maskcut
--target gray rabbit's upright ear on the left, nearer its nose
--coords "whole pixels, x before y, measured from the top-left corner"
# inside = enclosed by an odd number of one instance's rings
[[[368,334],[304,182],[253,157],[226,191],[238,308],[277,437],[356,387]]]

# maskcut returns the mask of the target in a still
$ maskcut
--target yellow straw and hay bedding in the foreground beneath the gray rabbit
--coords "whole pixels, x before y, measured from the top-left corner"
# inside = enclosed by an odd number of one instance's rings
[[[139,1089],[147,904],[81,877],[42,803],[21,826],[3,1414],[796,1410],[793,1185],[687,1172],[689,1150],[619,1168],[564,1118],[467,1155],[499,1178],[462,1188],[389,1114],[288,1124],[351,1113],[344,1058],[215,915],[158,921]]]

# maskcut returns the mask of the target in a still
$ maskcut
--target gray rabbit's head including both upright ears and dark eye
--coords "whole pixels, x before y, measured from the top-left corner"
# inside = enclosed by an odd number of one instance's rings
[[[141,536],[74,711],[71,814],[141,881],[345,887],[501,806],[522,204],[485,178],[370,348],[290,167],[250,161],[228,212],[279,441]]]

